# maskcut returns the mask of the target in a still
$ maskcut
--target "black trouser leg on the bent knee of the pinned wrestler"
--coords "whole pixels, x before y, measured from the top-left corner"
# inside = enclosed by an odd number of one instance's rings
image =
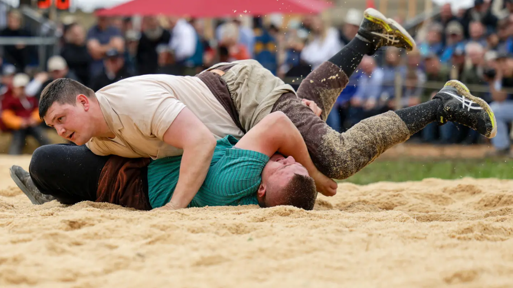
[[[63,204],[95,201],[98,180],[110,156],[98,156],[85,145],[46,145],[37,148],[29,173],[37,189]]]

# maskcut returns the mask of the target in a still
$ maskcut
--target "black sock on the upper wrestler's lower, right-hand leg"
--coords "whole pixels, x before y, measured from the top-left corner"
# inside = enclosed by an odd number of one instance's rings
[[[410,135],[413,135],[424,129],[428,124],[437,121],[441,109],[443,109],[442,100],[433,99],[416,106],[399,109],[396,114],[406,124]]]

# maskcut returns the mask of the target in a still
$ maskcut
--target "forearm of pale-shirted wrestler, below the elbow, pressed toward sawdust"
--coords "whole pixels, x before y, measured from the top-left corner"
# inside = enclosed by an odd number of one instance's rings
[[[207,176],[212,161],[215,141],[184,149],[180,164],[180,176],[171,197],[170,204],[175,209],[186,208],[198,193]]]

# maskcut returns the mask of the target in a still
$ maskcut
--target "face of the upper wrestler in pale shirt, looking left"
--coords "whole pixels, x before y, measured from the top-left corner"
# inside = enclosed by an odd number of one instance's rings
[[[46,125],[55,128],[59,136],[76,145],[84,145],[94,136],[94,125],[90,113],[87,113],[89,104],[89,98],[85,95],[78,95],[75,105],[54,102],[45,115]]]

